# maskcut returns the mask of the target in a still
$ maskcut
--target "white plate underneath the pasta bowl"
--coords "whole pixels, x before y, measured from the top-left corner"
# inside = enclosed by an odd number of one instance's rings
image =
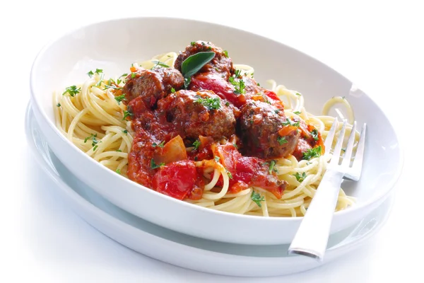
[[[208,241],[152,224],[108,202],[76,178],[52,153],[28,107],[28,143],[40,166],[54,180],[58,193],[76,214],[118,243],[172,265],[218,275],[264,277],[288,275],[318,267],[358,248],[383,226],[394,197],[357,224],[334,233],[323,262],[287,255],[288,245],[248,246]]]

